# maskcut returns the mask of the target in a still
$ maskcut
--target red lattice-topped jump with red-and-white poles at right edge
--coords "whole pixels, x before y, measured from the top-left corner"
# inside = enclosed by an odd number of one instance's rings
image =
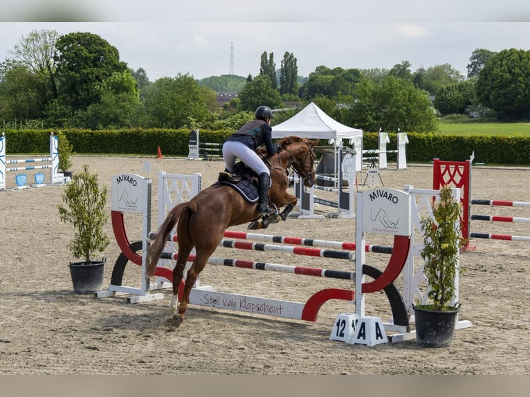
[[[470,231],[470,221],[492,221],[492,222],[513,222],[530,223],[530,218],[520,218],[515,216],[478,215],[470,213],[470,205],[490,205],[500,207],[530,207],[530,202],[524,201],[503,201],[489,199],[471,199],[471,162],[466,161],[441,161],[435,158],[433,162],[433,182],[432,187],[437,189],[442,185],[451,185],[462,189],[462,209],[461,221],[462,236],[468,239],[464,250],[475,250],[471,246],[469,239],[493,239],[505,241],[530,241],[529,236],[514,236],[511,234],[477,233]]]

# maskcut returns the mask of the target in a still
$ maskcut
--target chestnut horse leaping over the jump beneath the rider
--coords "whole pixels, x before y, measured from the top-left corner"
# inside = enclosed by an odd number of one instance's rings
[[[304,185],[311,187],[316,181],[314,147],[318,140],[308,140],[289,136],[280,140],[280,149],[272,156],[266,155],[266,149],[258,149],[258,154],[271,169],[272,185],[268,190],[269,198],[279,209],[286,206],[279,215],[272,215],[259,221],[257,203],[249,203],[239,192],[229,185],[216,184],[201,190],[190,201],[176,205],[167,214],[150,243],[147,254],[147,275],[154,276],[156,264],[165,248],[167,238],[176,225],[179,238],[178,258],[173,268],[173,297],[170,303],[170,318],[174,326],[179,326],[190,300],[190,290],[206,262],[223,239],[225,230],[233,225],[254,221],[249,228],[266,228],[268,223],[276,223],[280,218],[285,221],[293,210],[297,199],[287,192],[289,177],[287,169],[292,167],[304,179]],[[179,286],[184,276],[184,267],[192,249],[196,255],[185,279],[184,293],[180,304]],[[178,309],[178,313],[177,313]]]

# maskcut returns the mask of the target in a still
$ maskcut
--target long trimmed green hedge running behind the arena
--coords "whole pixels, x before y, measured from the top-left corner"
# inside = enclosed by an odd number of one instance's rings
[[[188,129],[120,129],[111,131],[62,130],[73,145],[73,154],[140,154],[156,156],[161,147],[164,156],[188,155]],[[6,130],[6,154],[46,154],[49,135],[44,130]],[[200,131],[201,142],[221,143],[232,131]],[[524,136],[444,136],[435,133],[407,133],[408,163],[440,160],[464,161],[475,152],[475,163],[530,165],[530,137]],[[397,134],[389,133],[387,149],[397,147]],[[320,140],[319,145],[328,145]],[[363,135],[363,149],[377,149],[378,133]],[[396,154],[387,156],[396,160]]]

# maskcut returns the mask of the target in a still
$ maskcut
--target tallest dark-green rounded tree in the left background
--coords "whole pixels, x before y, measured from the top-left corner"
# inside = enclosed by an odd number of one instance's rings
[[[116,47],[93,33],[69,33],[55,46],[57,93],[73,112],[100,102],[98,86],[113,73],[127,70]]]

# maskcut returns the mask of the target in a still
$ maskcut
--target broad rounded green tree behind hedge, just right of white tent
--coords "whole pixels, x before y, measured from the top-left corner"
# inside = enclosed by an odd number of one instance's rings
[[[387,76],[382,83],[363,79],[356,85],[354,102],[345,112],[345,124],[365,131],[437,131],[428,93],[412,82]]]

